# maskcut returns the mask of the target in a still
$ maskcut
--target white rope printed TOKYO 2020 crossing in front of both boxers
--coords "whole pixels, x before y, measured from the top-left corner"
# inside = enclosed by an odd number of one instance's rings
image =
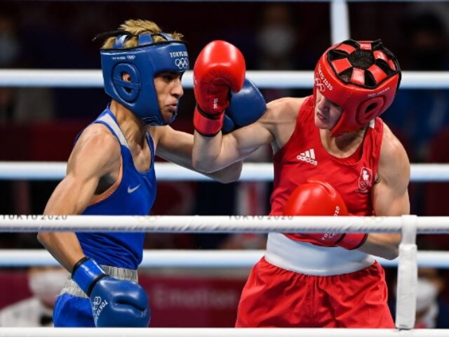
[[[447,216],[41,216],[0,215],[0,232],[401,232],[449,233]]]

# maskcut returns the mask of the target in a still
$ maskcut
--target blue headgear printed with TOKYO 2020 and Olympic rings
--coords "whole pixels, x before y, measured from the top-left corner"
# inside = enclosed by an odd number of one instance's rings
[[[159,35],[166,41],[153,41]],[[101,49],[101,67],[105,91],[114,100],[136,114],[146,125],[167,125],[163,121],[154,77],[160,72],[183,73],[189,69],[189,55],[182,41],[173,40],[169,34],[140,34],[138,46],[124,48],[125,41],[134,35],[123,31],[116,37],[112,49]],[[123,81],[123,73],[130,75],[130,82]]]

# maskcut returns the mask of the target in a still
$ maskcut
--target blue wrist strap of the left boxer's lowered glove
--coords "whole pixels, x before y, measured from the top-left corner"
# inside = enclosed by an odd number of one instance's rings
[[[107,277],[105,270],[95,260],[86,257],[75,263],[72,271],[72,279],[87,296],[91,296],[93,286],[103,277]]]

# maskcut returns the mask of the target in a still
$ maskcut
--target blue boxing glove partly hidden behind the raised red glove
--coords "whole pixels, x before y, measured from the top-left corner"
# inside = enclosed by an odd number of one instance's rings
[[[225,110],[222,133],[254,123],[267,110],[262,93],[250,79],[245,79],[243,88],[238,93],[231,93],[230,100],[231,103]]]

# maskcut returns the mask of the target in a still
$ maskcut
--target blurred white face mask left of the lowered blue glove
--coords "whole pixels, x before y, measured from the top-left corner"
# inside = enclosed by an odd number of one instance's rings
[[[67,281],[65,270],[45,270],[29,275],[28,286],[34,296],[48,305],[54,305],[62,287]]]

